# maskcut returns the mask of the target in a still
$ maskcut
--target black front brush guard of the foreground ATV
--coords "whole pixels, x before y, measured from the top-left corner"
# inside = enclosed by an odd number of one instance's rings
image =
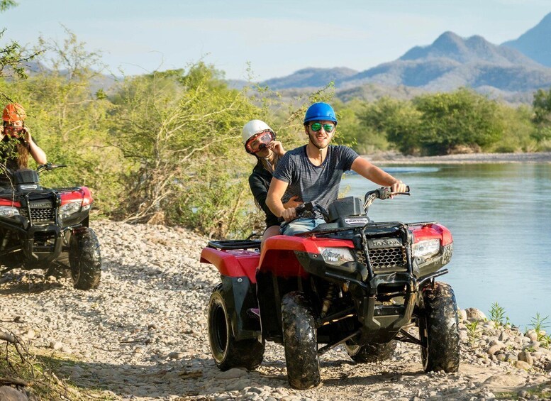
[[[440,270],[424,277],[419,277],[418,269],[411,256],[412,235],[408,226],[401,222],[388,222],[382,224],[368,223],[365,226],[345,227],[325,231],[312,231],[299,236],[316,236],[335,239],[349,239],[355,245],[356,251],[364,254],[363,263],[357,262],[357,268],[352,273],[346,273],[333,268],[325,263],[320,254],[296,251],[296,258],[304,270],[318,278],[334,282],[344,286],[350,291],[354,306],[344,311],[330,314],[323,319],[318,319],[316,327],[349,319],[356,315],[360,328],[347,334],[345,338],[335,341],[320,348],[320,353],[325,353],[330,348],[343,344],[354,338],[357,344],[367,342],[384,343],[394,339],[401,328],[411,322],[413,309],[416,306],[417,295],[421,285],[426,281],[447,273]],[[398,268],[391,273],[377,273],[372,266],[369,257],[369,243],[373,240],[379,242],[399,238],[403,244],[405,263],[403,268]],[[389,304],[392,298],[403,297],[401,304]],[[385,304],[386,301],[386,304]]]

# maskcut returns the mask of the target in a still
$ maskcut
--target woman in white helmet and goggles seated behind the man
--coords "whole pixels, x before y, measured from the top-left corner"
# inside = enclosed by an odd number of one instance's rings
[[[266,230],[262,235],[262,244],[266,238],[279,235],[279,220],[266,206],[269,183],[272,181],[272,173],[277,162],[285,150],[281,142],[276,141],[276,135],[268,124],[260,120],[251,120],[243,126],[243,145],[250,155],[257,158],[257,164],[249,176],[249,186],[255,203],[266,214]],[[302,202],[297,202],[297,197],[292,197],[284,203],[284,207],[297,207]]]

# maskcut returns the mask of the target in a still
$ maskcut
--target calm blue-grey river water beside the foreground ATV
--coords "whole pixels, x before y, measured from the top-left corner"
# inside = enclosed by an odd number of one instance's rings
[[[374,221],[439,221],[454,238],[450,273],[460,308],[489,317],[498,302],[523,329],[537,312],[551,326],[551,164],[382,167],[411,187],[411,197],[375,201]],[[356,174],[340,190],[376,188]],[[549,331],[549,329],[547,329]]]

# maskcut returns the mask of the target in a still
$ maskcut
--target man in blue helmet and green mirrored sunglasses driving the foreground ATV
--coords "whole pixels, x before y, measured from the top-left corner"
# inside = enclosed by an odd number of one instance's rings
[[[405,192],[406,185],[379,167],[372,165],[351,148],[330,145],[335,136],[337,117],[333,107],[326,103],[314,103],[304,116],[304,132],[308,143],[287,152],[274,171],[269,185],[266,204],[285,221],[292,222],[282,228],[282,234],[294,235],[310,231],[325,223],[320,214],[296,219],[296,208],[285,209],[282,197],[287,191],[302,202],[316,202],[324,209],[338,197],[343,173],[353,170],[363,177],[391,188],[391,192]]]

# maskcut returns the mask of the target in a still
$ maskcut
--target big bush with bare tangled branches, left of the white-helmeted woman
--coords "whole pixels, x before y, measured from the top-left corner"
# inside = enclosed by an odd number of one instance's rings
[[[262,110],[202,62],[129,77],[113,104],[111,141],[131,162],[121,216],[217,237],[239,231],[252,203],[240,131]]]

